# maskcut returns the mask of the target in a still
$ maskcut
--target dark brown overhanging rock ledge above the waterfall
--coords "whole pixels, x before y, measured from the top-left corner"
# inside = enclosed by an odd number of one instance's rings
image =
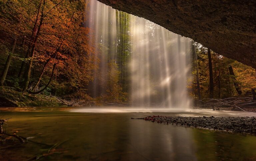
[[[255,0],[99,0],[256,68]]]

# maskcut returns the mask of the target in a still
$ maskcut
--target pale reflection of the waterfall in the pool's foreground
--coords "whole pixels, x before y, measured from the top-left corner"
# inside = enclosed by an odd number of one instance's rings
[[[146,160],[196,160],[191,132],[191,128],[152,122],[130,123],[131,144]]]

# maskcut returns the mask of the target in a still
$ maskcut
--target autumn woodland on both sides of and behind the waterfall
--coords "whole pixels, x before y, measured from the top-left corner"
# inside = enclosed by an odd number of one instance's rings
[[[84,0],[0,0],[2,99],[40,97],[59,102],[56,106],[129,103],[129,31],[119,32],[115,61],[111,53],[96,54],[99,51],[89,43],[92,29],[85,23],[85,8]],[[124,28],[129,25],[125,15],[119,16]],[[198,87],[200,99],[242,97],[256,88],[255,69],[194,45],[188,78],[193,99],[199,99]],[[103,64],[100,54],[109,55],[108,64]],[[103,65],[109,66],[105,76],[93,74]],[[104,90],[101,94],[93,92],[95,84]]]

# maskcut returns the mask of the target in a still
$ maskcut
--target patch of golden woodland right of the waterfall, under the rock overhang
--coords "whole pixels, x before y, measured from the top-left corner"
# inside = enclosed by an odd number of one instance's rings
[[[198,76],[202,99],[212,96],[212,93],[210,93],[210,86],[212,85],[214,98],[220,99],[229,98],[240,94],[251,93],[251,90],[256,88],[255,69],[239,63],[235,60],[228,59],[218,53],[210,53],[206,47],[202,46],[199,43],[195,43],[195,47],[198,57]],[[212,74],[210,74],[211,70],[209,65],[209,53],[211,55]],[[233,72],[231,72],[231,74],[229,69],[230,65],[233,69]],[[234,73],[235,75],[233,75],[232,73]],[[196,96],[196,67],[194,67],[193,74],[194,90],[191,95]],[[210,80],[211,75],[213,81]]]

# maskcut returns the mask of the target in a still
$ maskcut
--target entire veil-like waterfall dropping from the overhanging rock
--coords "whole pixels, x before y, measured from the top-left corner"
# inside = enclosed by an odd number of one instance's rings
[[[87,26],[92,29],[90,43],[100,59],[95,78],[106,73],[108,62],[115,62],[121,81],[129,75],[129,94],[134,106],[186,108],[190,105],[189,38],[96,0],[89,0],[87,9]],[[97,79],[93,84],[94,91],[103,91],[96,87]]]

